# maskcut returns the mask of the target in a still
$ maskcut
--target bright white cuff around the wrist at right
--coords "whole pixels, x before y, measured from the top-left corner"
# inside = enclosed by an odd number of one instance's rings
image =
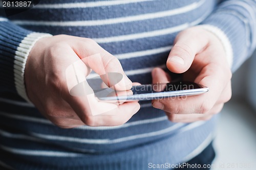
[[[204,30],[211,32],[212,34],[214,34],[216,37],[220,39],[226,53],[226,59],[227,59],[228,65],[231,68],[233,64],[233,49],[226,34],[218,27],[211,26],[211,25],[200,25],[197,27],[200,27]]]

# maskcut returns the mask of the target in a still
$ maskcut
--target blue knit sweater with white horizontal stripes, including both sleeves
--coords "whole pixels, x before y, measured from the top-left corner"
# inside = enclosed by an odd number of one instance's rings
[[[61,129],[26,102],[24,69],[37,39],[67,34],[94,39],[117,57],[133,81],[151,83],[176,35],[207,25],[232,54],[232,71],[256,44],[254,0],[42,0],[17,15],[0,8],[0,166],[13,169],[148,169],[199,154],[212,140],[217,117],[172,123],[141,103],[117,127]],[[39,34],[40,33],[40,34]],[[164,169],[164,168],[163,168]]]

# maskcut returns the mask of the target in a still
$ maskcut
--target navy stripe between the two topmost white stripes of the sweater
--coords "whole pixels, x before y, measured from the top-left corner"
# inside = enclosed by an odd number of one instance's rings
[[[37,15],[31,15],[30,20],[44,20],[44,21],[79,21],[79,20],[100,20],[109,18],[118,18],[125,16],[141,15],[147,13],[155,13],[160,11],[167,11],[171,9],[180,8],[183,6],[195,3],[195,0],[179,1],[179,0],[161,0],[161,1],[148,1],[140,3],[131,3],[124,5],[103,6],[94,8],[68,8],[68,9],[36,9],[31,8],[28,11],[13,15],[10,19],[28,19],[28,15],[37,13]],[[198,0],[199,1],[199,0]],[[73,3],[73,2],[72,2]],[[51,4],[53,4],[51,2]],[[161,8],[156,8],[161,6]],[[122,12],[120,12],[122,11]],[[97,15],[95,15],[97,13]],[[72,15],[67,15],[72,14]],[[74,15],[76,17],[74,17]],[[52,17],[49,17],[52,16]]]

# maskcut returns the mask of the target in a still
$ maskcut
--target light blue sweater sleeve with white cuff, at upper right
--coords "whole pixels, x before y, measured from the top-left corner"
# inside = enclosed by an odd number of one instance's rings
[[[235,71],[256,46],[256,1],[221,1],[201,25],[222,41],[230,67]]]

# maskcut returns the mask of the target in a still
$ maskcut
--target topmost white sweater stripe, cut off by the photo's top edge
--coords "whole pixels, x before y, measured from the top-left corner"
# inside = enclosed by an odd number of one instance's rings
[[[154,0],[117,0],[117,1],[96,1],[82,3],[65,3],[65,4],[37,4],[34,9],[62,9],[62,8],[93,8],[103,6],[114,6],[123,4],[140,3]]]

